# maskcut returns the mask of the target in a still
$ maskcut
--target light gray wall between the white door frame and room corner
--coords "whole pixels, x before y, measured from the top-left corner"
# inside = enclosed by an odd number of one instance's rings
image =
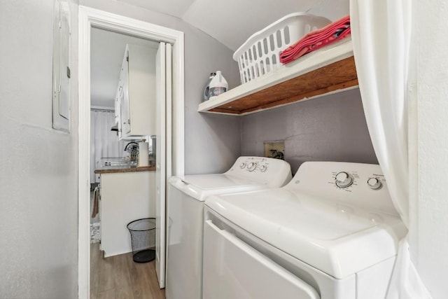
[[[80,0],[80,5],[185,32],[185,172],[200,174],[227,170],[239,155],[240,120],[232,116],[203,115],[197,112],[197,106],[212,71],[223,71],[229,88],[239,84],[232,51],[169,15],[117,1]]]

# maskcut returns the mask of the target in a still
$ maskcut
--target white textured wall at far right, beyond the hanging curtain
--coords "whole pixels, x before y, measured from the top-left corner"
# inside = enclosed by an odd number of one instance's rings
[[[413,1],[417,155],[411,165],[410,249],[434,299],[448,294],[448,1]],[[415,148],[412,148],[415,150]]]

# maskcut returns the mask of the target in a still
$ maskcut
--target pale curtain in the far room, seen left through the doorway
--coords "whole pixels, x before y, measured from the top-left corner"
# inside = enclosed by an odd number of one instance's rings
[[[117,132],[111,131],[115,125],[111,111],[90,111],[90,183],[98,183],[99,176],[94,170],[101,167],[101,158],[115,158],[127,155],[126,141],[119,141]]]

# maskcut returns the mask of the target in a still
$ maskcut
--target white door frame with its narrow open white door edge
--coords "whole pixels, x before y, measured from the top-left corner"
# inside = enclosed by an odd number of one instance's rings
[[[158,148],[164,151],[165,158],[158,159],[158,186],[159,194],[165,196],[167,177],[172,174],[183,174],[183,33],[165,27],[159,27],[147,22],[141,22],[120,15],[113,15],[92,8],[80,6],[79,11],[79,256],[78,256],[78,295],[79,298],[90,297],[90,202],[85,200],[90,194],[90,42],[93,28],[101,28],[112,32],[119,32],[128,36],[138,36],[141,39],[157,41],[164,45],[166,66],[169,71],[165,71],[165,81],[172,83],[165,85],[162,90],[165,94],[160,109],[166,111],[163,119],[158,124],[158,134],[164,132],[160,139],[165,138],[165,142],[157,142]],[[165,46],[165,43],[168,46]],[[167,49],[172,49],[167,60]],[[166,82],[165,82],[166,83]],[[159,90],[160,88],[156,88]],[[159,92],[160,93],[160,92]],[[173,97],[171,98],[171,95]],[[162,97],[158,97],[160,101]],[[169,109],[167,109],[167,107]],[[171,108],[173,107],[173,108]],[[162,110],[160,110],[162,111]],[[176,115],[176,118],[172,117]],[[176,119],[175,123],[171,123]],[[167,122],[170,123],[167,123]],[[175,136],[175,139],[172,139]],[[163,137],[163,138],[162,138]],[[165,147],[165,150],[164,150]],[[159,152],[160,156],[160,152]],[[173,161],[172,159],[176,160]],[[172,169],[171,165],[176,165]],[[160,233],[158,235],[159,263],[158,280],[160,287],[165,287],[165,198],[162,198],[158,206],[160,209]],[[88,215],[88,216],[87,216]]]

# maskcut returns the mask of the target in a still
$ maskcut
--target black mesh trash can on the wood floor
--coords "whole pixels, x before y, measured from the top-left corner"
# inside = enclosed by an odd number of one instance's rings
[[[131,233],[132,258],[148,263],[155,258],[155,218],[143,218],[127,224]]]

